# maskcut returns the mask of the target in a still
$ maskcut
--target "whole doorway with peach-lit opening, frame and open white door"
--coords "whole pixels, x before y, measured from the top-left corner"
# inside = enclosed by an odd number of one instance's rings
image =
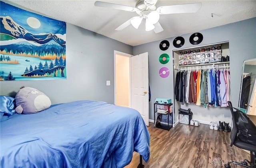
[[[148,53],[114,51],[114,104],[136,109],[149,125]]]

